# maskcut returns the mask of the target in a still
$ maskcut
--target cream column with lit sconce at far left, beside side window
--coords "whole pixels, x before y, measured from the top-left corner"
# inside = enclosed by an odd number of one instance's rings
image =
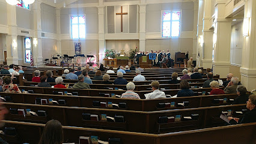
[[[7,44],[7,65],[18,64],[17,50],[17,22],[16,22],[16,5],[7,4],[7,21],[8,34],[6,37]]]

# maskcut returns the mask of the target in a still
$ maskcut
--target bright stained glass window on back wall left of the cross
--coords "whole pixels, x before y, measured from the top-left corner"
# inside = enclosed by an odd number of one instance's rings
[[[72,38],[85,38],[85,16],[71,17]]]

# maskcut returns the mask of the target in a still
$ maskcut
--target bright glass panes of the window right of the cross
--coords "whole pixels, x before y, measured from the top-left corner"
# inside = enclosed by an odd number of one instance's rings
[[[180,11],[163,12],[162,37],[180,36]]]

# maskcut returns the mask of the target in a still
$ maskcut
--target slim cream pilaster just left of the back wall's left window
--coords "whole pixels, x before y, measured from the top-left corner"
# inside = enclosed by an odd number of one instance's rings
[[[57,52],[61,54],[61,9],[56,8]]]

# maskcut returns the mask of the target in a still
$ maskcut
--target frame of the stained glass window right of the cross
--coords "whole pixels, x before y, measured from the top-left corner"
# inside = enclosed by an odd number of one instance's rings
[[[180,11],[180,33],[178,35],[178,37],[172,37],[171,36],[171,32],[172,32],[172,22],[178,22],[178,20],[172,20],[172,14],[171,14],[171,20],[169,20],[170,22],[170,36],[169,37],[163,37],[163,13],[172,13],[172,12],[175,12],[175,11]],[[168,21],[165,21],[165,22],[168,22]],[[181,37],[181,23],[182,23],[182,10],[162,10],[161,11],[161,23],[160,23],[160,34],[161,34],[161,38],[180,38]]]

